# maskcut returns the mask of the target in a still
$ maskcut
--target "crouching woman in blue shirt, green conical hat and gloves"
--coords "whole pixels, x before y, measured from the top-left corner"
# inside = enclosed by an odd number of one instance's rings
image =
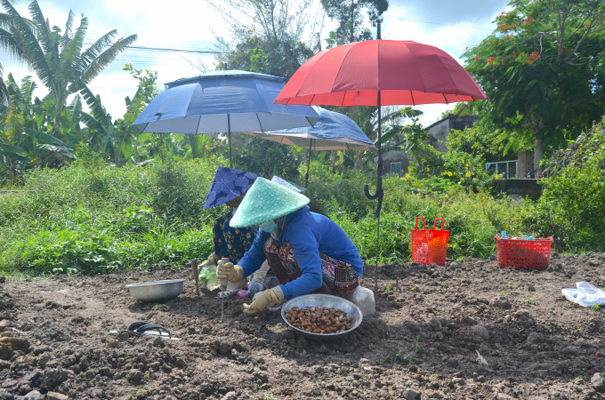
[[[308,203],[306,196],[259,178],[230,220],[233,228],[260,229],[238,265],[219,264],[217,278],[238,282],[268,260],[280,283],[255,294],[246,314],[310,292],[346,297],[359,286],[363,261],[357,247],[333,220],[310,212]]]

